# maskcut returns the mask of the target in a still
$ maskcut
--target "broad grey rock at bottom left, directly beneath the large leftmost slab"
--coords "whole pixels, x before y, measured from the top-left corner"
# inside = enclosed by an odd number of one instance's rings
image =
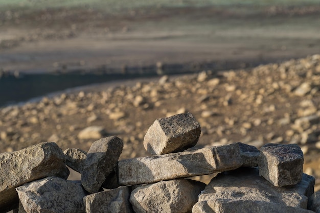
[[[27,212],[80,213],[85,212],[80,181],[47,177],[16,188],[20,202]]]

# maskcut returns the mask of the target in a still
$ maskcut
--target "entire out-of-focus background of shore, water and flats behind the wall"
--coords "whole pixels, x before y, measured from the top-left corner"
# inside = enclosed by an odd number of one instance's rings
[[[0,0],[0,153],[117,135],[146,156],[191,112],[195,148],[298,144],[319,190],[319,53],[318,0]]]

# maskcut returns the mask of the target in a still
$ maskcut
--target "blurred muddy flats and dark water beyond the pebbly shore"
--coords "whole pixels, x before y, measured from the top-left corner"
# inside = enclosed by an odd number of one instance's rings
[[[317,0],[1,0],[0,105],[316,54],[319,13]]]

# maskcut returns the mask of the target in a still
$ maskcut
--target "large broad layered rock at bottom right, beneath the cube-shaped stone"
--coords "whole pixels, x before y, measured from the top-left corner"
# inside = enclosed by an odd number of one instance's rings
[[[305,212],[308,197],[313,194],[314,182],[314,177],[303,174],[302,181],[294,186],[276,187],[259,176],[258,168],[224,172],[205,186],[199,195],[199,201],[193,206],[193,213],[283,212],[281,209],[287,209],[284,212],[299,212],[299,209],[294,208],[301,208],[301,212]],[[268,208],[256,211],[259,205],[267,206],[263,202],[269,203],[270,209],[274,211],[269,211]],[[279,205],[278,210],[274,209],[278,206],[275,204]],[[237,211],[228,211],[232,205]],[[249,211],[250,209],[253,210]]]

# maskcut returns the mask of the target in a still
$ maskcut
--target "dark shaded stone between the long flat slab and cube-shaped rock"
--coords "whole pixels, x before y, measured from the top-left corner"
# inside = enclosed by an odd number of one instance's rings
[[[254,147],[243,143],[236,143],[240,148],[242,167],[258,167],[260,151]]]

